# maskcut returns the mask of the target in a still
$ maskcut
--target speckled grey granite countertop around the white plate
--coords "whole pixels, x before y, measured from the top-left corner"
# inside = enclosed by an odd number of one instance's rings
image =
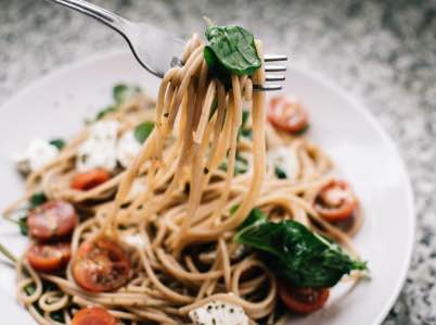
[[[406,161],[419,218],[412,266],[384,325],[436,324],[435,1],[236,0],[240,10],[230,0],[94,2],[169,30],[201,30],[203,15],[239,22],[269,51],[292,53],[362,100]],[[0,103],[59,65],[121,46],[108,28],[60,7],[0,0]]]

